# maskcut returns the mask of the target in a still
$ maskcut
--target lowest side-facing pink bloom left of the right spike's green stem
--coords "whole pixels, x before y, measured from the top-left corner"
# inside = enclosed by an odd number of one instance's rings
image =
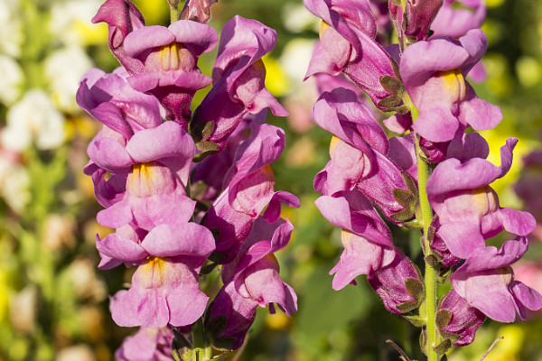
[[[341,290],[360,274],[393,313],[415,309],[422,301],[423,285],[416,266],[391,242],[391,233],[369,199],[352,190],[322,196],[316,207],[333,226],[341,227],[344,252],[332,268],[333,289]]]

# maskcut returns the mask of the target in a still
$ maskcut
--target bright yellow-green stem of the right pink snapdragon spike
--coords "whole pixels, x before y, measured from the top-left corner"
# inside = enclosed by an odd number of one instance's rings
[[[413,112],[414,113],[414,112]],[[413,118],[414,118],[413,114]],[[419,139],[416,135],[416,154],[417,154],[417,167],[418,167],[418,189],[420,199],[420,213],[421,221],[424,225],[424,245],[425,245],[425,257],[431,255],[431,247],[429,245],[429,239],[427,237],[429,233],[429,226],[433,221],[433,211],[427,198],[427,180],[429,179],[429,167],[422,156],[422,150],[420,149]],[[438,355],[435,352],[434,347],[437,343],[436,333],[436,270],[430,264],[425,261],[425,307],[422,308],[423,313],[420,316],[425,319],[426,341],[427,348],[425,354],[428,361],[438,361]]]

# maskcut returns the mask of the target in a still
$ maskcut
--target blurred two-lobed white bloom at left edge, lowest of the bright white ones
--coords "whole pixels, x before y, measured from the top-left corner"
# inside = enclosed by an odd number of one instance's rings
[[[8,109],[5,118],[7,126],[0,139],[3,147],[11,151],[21,152],[33,140],[38,149],[53,149],[66,138],[64,116],[42,89],[27,91]]]

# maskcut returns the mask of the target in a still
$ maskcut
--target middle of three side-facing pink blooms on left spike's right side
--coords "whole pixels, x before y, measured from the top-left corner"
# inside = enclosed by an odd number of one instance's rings
[[[269,166],[285,147],[285,134],[273,125],[251,124],[247,141],[239,145],[235,160],[224,178],[224,191],[207,212],[203,223],[218,229],[217,252],[227,263],[237,255],[252,223],[264,208],[264,218],[273,223],[280,217],[281,203],[299,207],[299,199],[275,191],[275,175]]]

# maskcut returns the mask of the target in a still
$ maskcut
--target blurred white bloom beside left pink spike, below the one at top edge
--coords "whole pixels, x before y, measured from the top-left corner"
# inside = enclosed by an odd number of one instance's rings
[[[92,68],[87,53],[79,46],[54,51],[45,60],[44,68],[57,106],[69,113],[79,111],[75,102],[79,80]]]

